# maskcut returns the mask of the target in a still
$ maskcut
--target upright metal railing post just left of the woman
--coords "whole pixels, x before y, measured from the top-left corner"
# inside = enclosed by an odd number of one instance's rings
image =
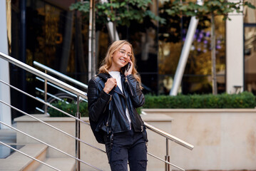
[[[76,118],[80,120],[81,113],[79,113],[79,95],[77,95],[76,103],[77,103]],[[79,120],[76,120],[76,158],[80,160],[80,141],[78,140],[80,139],[80,121]],[[80,171],[80,161],[78,160],[76,160],[75,170]]]

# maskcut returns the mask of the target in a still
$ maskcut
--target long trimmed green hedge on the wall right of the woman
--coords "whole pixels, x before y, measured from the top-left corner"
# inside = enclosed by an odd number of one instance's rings
[[[143,108],[255,108],[252,93],[219,95],[145,95]]]

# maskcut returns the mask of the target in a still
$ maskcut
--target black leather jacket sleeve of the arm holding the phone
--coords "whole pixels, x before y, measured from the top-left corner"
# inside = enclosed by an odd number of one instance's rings
[[[145,103],[144,95],[140,89],[138,81],[132,74],[126,76],[126,84],[128,84],[128,92],[130,94],[130,99],[133,103],[133,106],[135,108],[143,106]]]

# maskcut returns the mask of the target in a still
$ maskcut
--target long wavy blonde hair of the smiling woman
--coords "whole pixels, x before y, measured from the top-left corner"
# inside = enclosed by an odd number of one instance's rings
[[[108,52],[106,53],[106,56],[105,56],[105,58],[103,59],[103,61],[101,63],[101,67],[98,69],[98,73],[108,73],[108,69],[111,68],[111,66],[112,66],[113,53],[118,51],[124,44],[128,44],[128,46],[130,46],[131,54],[132,54],[132,57],[130,58],[130,61],[133,62],[132,74],[135,77],[135,79],[138,81],[138,83],[140,84],[140,89],[142,89],[143,87],[141,86],[140,75],[138,74],[138,71],[135,69],[136,60],[135,60],[135,56],[134,56],[134,53],[133,53],[133,46],[128,41],[123,41],[123,40],[114,41],[111,44],[111,46],[109,46]],[[124,74],[124,72],[125,72],[125,68],[121,68],[121,73]]]

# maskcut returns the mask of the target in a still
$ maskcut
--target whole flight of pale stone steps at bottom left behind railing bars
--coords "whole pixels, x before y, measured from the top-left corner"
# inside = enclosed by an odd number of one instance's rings
[[[10,130],[0,130],[0,140],[8,145],[18,145],[14,138],[16,133],[10,132]],[[16,137],[16,136],[15,136]],[[4,146],[6,147],[6,146]],[[9,150],[9,147],[6,147]],[[5,148],[5,149],[6,149]],[[1,149],[1,148],[0,148]],[[3,148],[2,148],[3,149]],[[47,157],[48,146],[43,144],[26,144],[19,150],[21,152],[30,155],[31,157],[46,162],[48,165],[55,167],[58,170],[71,171],[74,170],[76,161],[71,157],[65,158],[50,158]],[[41,164],[36,160],[27,157],[20,152],[12,152],[6,158],[0,158],[0,170],[36,170],[47,171],[53,170],[51,167]]]

